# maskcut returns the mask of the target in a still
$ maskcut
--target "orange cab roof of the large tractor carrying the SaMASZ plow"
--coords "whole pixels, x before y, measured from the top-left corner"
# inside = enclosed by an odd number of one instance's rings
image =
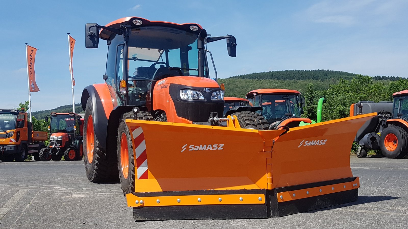
[[[141,25],[135,25],[133,24],[133,20],[141,20],[142,24]],[[163,22],[163,21],[150,21],[145,18],[139,18],[139,17],[126,17],[126,18],[120,18],[118,20],[115,20],[113,22],[110,22],[106,24],[106,27],[112,27],[115,29],[120,29],[120,25],[130,25],[132,27],[141,27],[141,26],[167,26],[167,27],[173,27],[177,29],[182,29],[182,30],[189,30],[190,26],[195,25],[198,26],[198,32],[200,32],[203,28],[201,25],[196,24],[196,23],[183,23],[183,24],[177,24],[173,22]],[[109,37],[113,32],[108,31],[106,29],[102,29],[99,33],[99,37],[103,40],[109,40]]]

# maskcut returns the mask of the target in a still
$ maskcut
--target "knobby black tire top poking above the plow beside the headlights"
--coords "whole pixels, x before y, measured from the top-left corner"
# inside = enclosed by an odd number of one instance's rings
[[[255,129],[255,130],[268,130],[269,125],[262,114],[258,114],[252,111],[241,111],[234,113],[237,116],[238,123],[241,128]]]

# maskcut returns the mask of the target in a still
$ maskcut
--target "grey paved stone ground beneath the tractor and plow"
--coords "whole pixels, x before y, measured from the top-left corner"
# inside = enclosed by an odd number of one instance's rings
[[[269,219],[133,221],[119,184],[89,183],[82,161],[0,163],[0,228],[408,228],[408,158],[350,158],[359,200]],[[85,222],[85,223],[83,223]]]

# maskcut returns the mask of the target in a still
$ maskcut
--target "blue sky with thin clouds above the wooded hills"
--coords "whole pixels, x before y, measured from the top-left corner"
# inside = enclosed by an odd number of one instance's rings
[[[212,36],[237,39],[237,57],[225,41],[212,42],[218,77],[272,70],[340,70],[408,77],[406,0],[128,0],[3,1],[0,13],[0,108],[28,100],[25,43],[38,48],[39,92],[32,111],[72,104],[67,33],[75,38],[75,103],[82,90],[103,83],[107,45],[86,49],[86,23],[137,16],[198,23]],[[211,66],[211,64],[210,64]]]

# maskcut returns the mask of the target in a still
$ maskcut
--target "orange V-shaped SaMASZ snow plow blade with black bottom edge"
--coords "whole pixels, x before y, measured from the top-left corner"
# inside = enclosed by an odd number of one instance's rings
[[[284,130],[126,119],[135,149],[128,206],[135,220],[268,218],[357,200],[350,149],[374,115],[282,136]]]

